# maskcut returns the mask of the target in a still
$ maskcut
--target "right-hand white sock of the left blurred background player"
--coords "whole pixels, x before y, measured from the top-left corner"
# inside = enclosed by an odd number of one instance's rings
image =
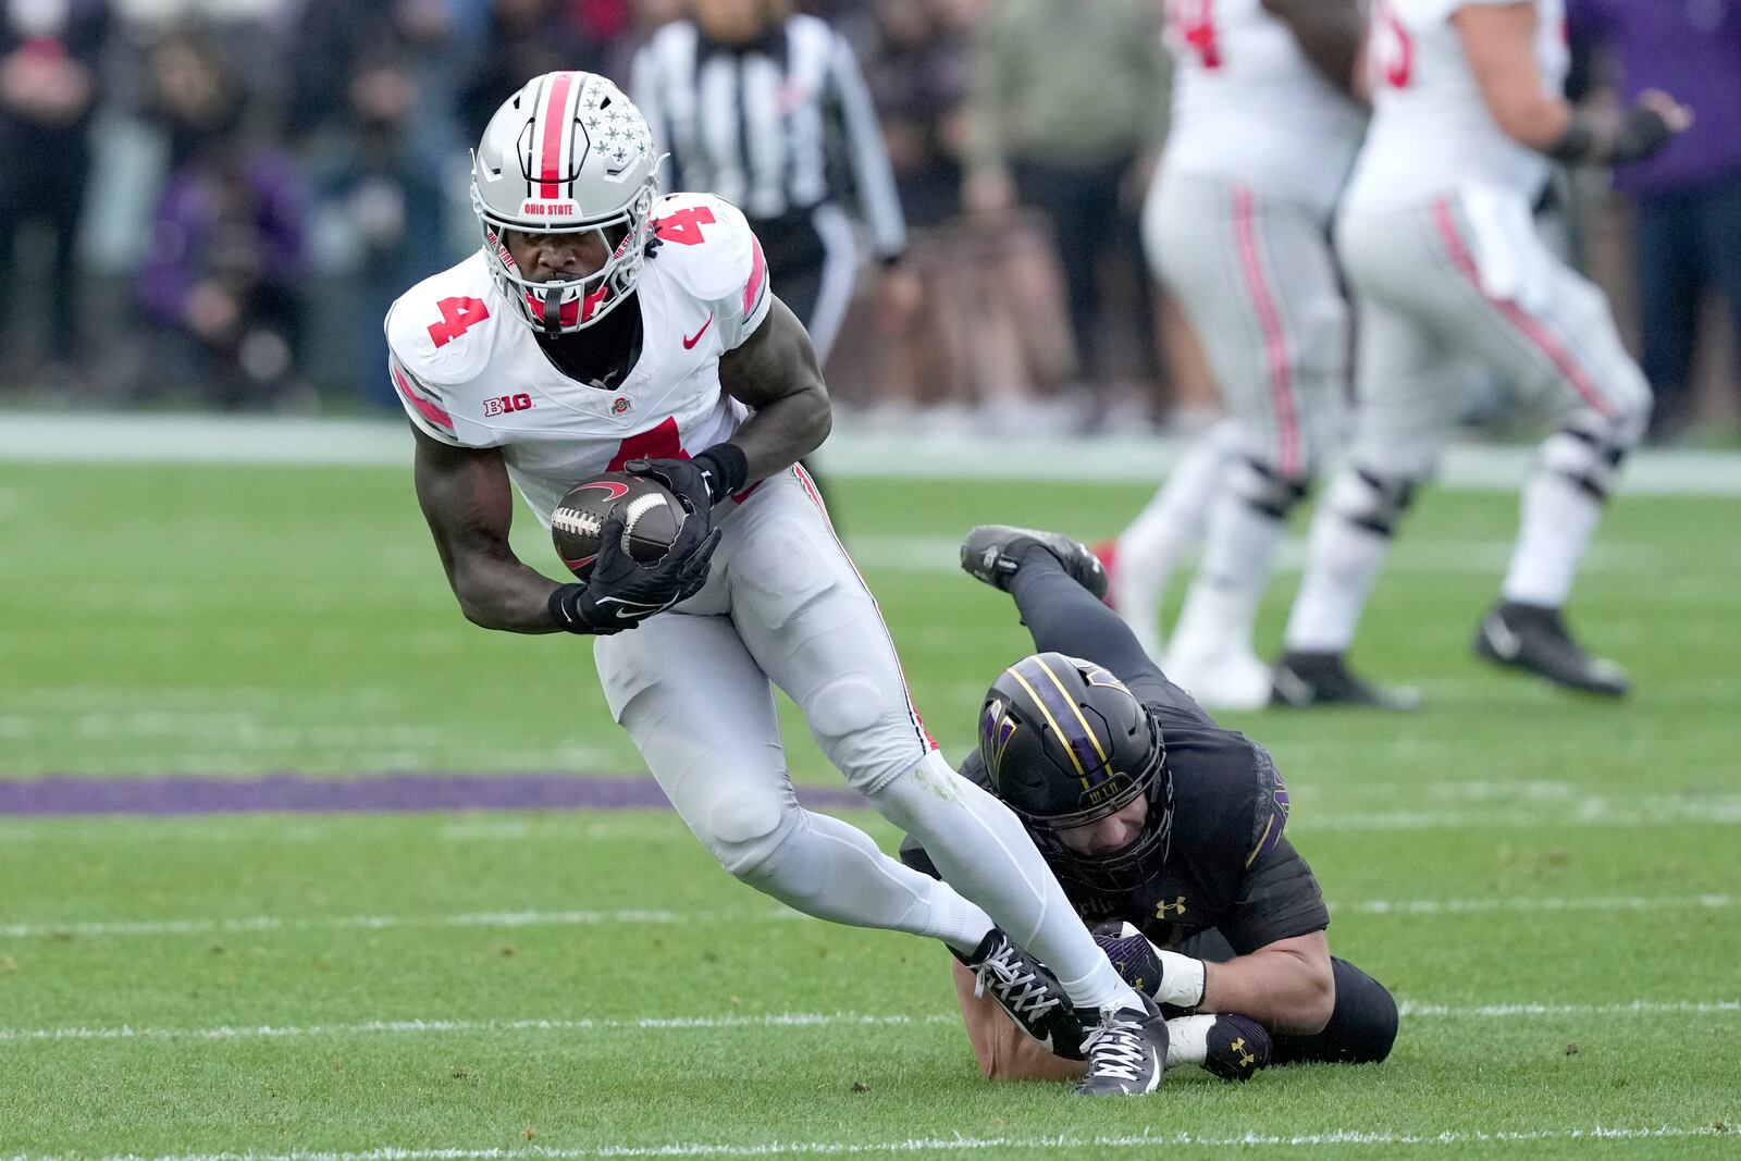
[[[1173,627],[1173,648],[1191,654],[1252,653],[1257,606],[1269,587],[1283,520],[1224,493],[1210,513],[1203,564]]]

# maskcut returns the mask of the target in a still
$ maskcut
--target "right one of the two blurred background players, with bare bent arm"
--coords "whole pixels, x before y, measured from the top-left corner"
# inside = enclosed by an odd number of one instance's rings
[[[1276,665],[1276,701],[1407,707],[1344,653],[1391,533],[1429,479],[1462,406],[1455,364],[1485,362],[1558,428],[1523,486],[1499,604],[1475,648],[1565,688],[1628,689],[1572,639],[1562,607],[1650,392],[1609,305],[1534,230],[1551,160],[1623,165],[1691,124],[1661,92],[1623,115],[1560,96],[1562,0],[1379,0],[1374,118],[1337,221],[1360,350],[1349,465],[1313,522]]]

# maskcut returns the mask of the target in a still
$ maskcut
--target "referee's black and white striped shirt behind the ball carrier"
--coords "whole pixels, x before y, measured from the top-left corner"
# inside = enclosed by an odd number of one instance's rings
[[[676,21],[641,49],[630,89],[670,151],[663,188],[717,193],[752,221],[848,204],[877,256],[905,247],[870,92],[825,21],[792,16],[747,45]]]

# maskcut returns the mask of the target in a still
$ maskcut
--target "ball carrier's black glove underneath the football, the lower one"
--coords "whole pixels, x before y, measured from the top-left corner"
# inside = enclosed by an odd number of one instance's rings
[[[623,517],[611,512],[599,533],[592,574],[585,585],[562,585],[550,594],[550,616],[571,634],[608,637],[634,628],[702,592],[717,547],[719,529],[705,515],[691,513],[670,550],[644,566],[623,552]]]

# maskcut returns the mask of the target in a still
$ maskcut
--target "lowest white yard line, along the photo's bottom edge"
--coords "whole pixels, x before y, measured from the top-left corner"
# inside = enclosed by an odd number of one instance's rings
[[[985,1149],[1029,1149],[1048,1152],[1081,1152],[1092,1149],[1165,1149],[1168,1145],[1200,1147],[1309,1147],[1309,1145],[1513,1145],[1529,1142],[1584,1142],[1584,1140],[1684,1140],[1691,1137],[1725,1137],[1734,1133],[1715,1124],[1656,1124],[1544,1130],[1449,1130],[1417,1133],[1412,1130],[1337,1130],[1332,1133],[1240,1133],[1215,1137],[1205,1133],[1142,1133],[1125,1137],[909,1137],[904,1140],[770,1140],[749,1145],[719,1145],[707,1142],[674,1142],[665,1145],[594,1145],[590,1149],[399,1149],[376,1147],[357,1151],[287,1152],[171,1152],[155,1158],[115,1154],[91,1158],[87,1154],[14,1154],[0,1161],[588,1161],[592,1158],[780,1158],[780,1156],[857,1156],[884,1152],[945,1152]]]

